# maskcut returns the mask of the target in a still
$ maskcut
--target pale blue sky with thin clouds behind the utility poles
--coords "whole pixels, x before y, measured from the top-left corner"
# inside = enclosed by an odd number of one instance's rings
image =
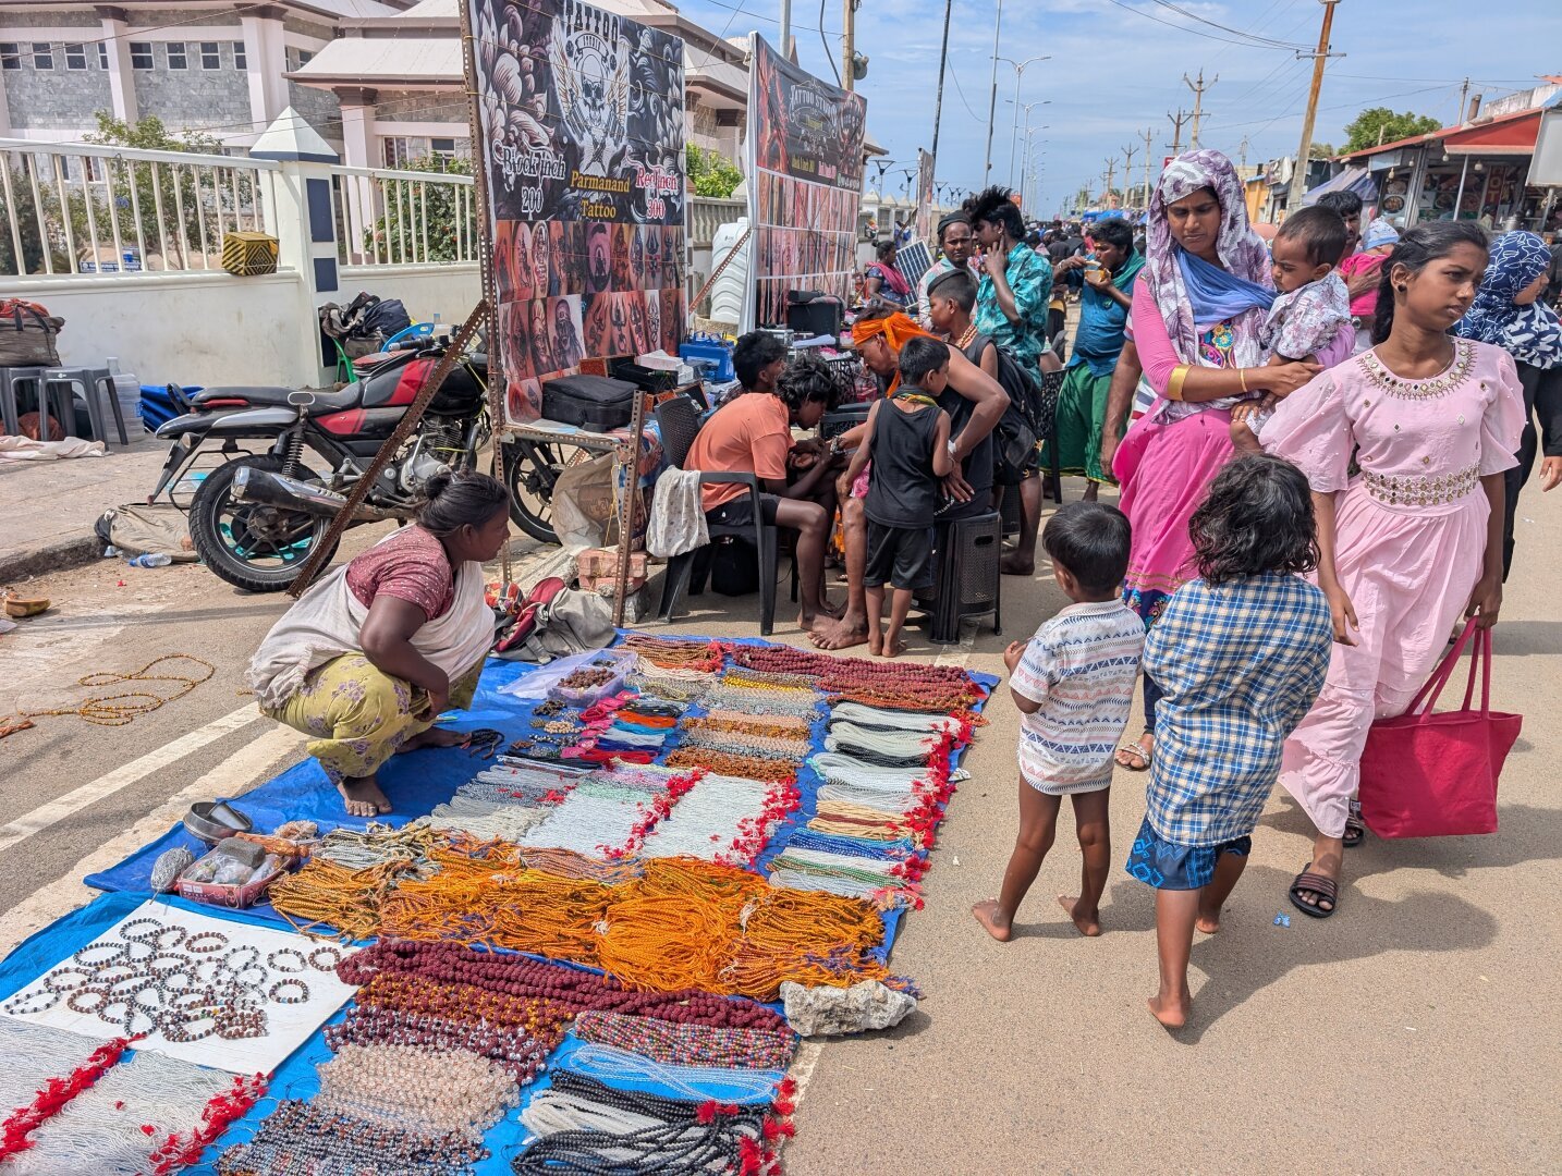
[[[675,0],[679,11],[725,36],[758,30],[779,41],[779,0]],[[1296,150],[1307,102],[1311,59],[1289,48],[1264,48],[1203,20],[1292,45],[1317,45],[1323,8],[1317,0],[1006,0],[1000,55],[1051,61],[1026,67],[1022,102],[1050,102],[1031,109],[1040,159],[1036,208],[1056,209],[1087,180],[1100,187],[1106,156],[1122,161],[1137,145],[1134,180],[1143,178],[1143,131],[1154,127],[1154,166],[1170,155],[1168,112],[1192,111],[1193,94],[1182,73],[1206,81],[1201,145],[1239,158],[1248,137],[1248,162]],[[979,186],[992,78],[995,0],[954,0],[950,27],[950,75],[943,89],[943,127],[937,178]],[[1336,6],[1332,50],[1323,80],[1315,139],[1343,142],[1343,127],[1365,106],[1392,106],[1454,120],[1459,86],[1489,98],[1535,84],[1537,73],[1562,73],[1562,5],[1557,0],[1504,0],[1484,23],[1476,6],[1454,0],[1342,0]],[[820,9],[792,5],[793,37],[804,69],[834,80],[820,44]],[[825,0],[823,28],[831,55],[840,58],[842,0]],[[917,148],[933,145],[942,0],[861,0],[858,52],[870,58],[859,89],[868,100],[868,133],[897,162],[886,176],[900,191],[898,169],[915,164]],[[1201,36],[1203,34],[1203,36]],[[1221,39],[1217,39],[1221,37]],[[1011,128],[1015,94],[1011,66],[998,67],[998,116],[990,180],[1011,176]],[[1020,112],[1023,127],[1025,112]],[[1184,144],[1187,130],[1184,128]],[[1023,145],[1014,162],[1018,186]],[[1151,180],[1154,178],[1154,166]],[[1122,162],[1118,162],[1122,170]],[[875,169],[868,170],[873,186]]]

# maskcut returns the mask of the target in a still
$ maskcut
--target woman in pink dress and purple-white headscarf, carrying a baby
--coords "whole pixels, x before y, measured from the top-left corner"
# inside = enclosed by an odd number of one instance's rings
[[[1231,458],[1231,408],[1287,395],[1317,364],[1264,365],[1259,330],[1275,301],[1268,250],[1248,225],[1242,183],[1220,151],[1189,151],[1161,173],[1150,201],[1145,267],[1129,334],[1156,403],[1117,447],[1112,472],[1132,523],[1125,603],[1145,628],[1196,575],[1189,519]],[[1145,734],[1117,762],[1150,767],[1161,689],[1145,678]]]

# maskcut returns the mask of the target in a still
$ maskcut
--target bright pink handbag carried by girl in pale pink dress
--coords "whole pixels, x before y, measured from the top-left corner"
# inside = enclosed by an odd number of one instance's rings
[[[1475,634],[1464,706],[1432,712]],[[1481,709],[1471,711],[1481,667]],[[1496,832],[1496,779],[1523,715],[1492,711],[1492,631],[1471,620],[1426,686],[1395,718],[1379,718],[1362,750],[1362,821],[1379,837]]]

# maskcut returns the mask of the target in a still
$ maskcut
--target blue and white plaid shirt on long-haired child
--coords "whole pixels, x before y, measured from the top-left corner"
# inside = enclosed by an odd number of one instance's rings
[[[1329,603],[1301,576],[1176,590],[1145,642],[1145,673],[1162,690],[1145,790],[1156,834],[1204,846],[1253,832],[1332,648]]]

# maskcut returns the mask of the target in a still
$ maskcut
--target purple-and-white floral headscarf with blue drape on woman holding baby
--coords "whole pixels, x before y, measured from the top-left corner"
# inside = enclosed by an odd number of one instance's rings
[[[1172,237],[1167,206],[1193,195],[1201,187],[1211,189],[1220,201],[1215,253],[1225,265],[1223,272],[1193,258]],[[1184,364],[1200,362],[1196,323],[1221,320],[1231,323],[1231,362],[1237,367],[1264,364],[1259,333],[1275,298],[1268,248],[1248,225],[1248,205],[1237,169],[1220,151],[1187,151],[1167,164],[1161,173],[1161,183],[1156,184],[1156,194],[1150,200],[1143,281],[1148,283],[1165,322],[1172,348]],[[1268,300],[1262,298],[1264,292],[1268,294]],[[1204,314],[1200,314],[1201,309]],[[1201,404],[1167,401],[1162,419],[1172,420],[1206,408],[1226,408],[1234,400],[1221,398]]]

